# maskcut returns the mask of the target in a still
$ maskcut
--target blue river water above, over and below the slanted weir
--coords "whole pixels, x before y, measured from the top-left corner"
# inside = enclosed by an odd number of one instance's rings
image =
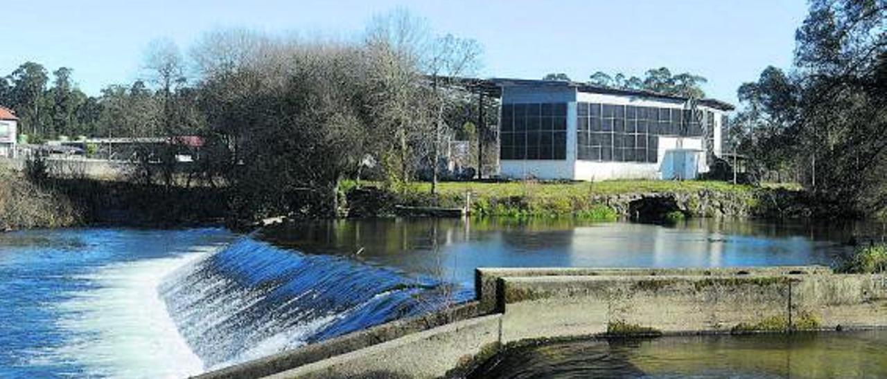
[[[467,300],[475,267],[829,265],[881,228],[401,219],[5,233],[0,377],[183,377]]]

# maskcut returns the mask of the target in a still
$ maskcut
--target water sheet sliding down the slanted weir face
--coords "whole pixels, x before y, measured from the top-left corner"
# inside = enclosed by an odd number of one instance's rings
[[[354,259],[306,255],[245,237],[179,268],[160,286],[208,369],[341,336],[473,296]]]

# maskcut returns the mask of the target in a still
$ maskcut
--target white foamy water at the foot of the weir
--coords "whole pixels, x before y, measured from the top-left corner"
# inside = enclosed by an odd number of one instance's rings
[[[57,305],[59,329],[70,336],[65,347],[49,352],[71,360],[90,375],[121,378],[179,378],[203,372],[160,298],[166,275],[213,249],[178,257],[145,259],[101,267],[83,275],[98,288],[74,294]]]

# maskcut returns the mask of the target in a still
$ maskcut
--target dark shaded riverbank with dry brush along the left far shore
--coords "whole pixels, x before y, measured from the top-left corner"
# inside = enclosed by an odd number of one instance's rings
[[[51,177],[38,184],[24,175],[0,171],[0,231],[222,225],[228,215],[228,195],[220,188]]]

